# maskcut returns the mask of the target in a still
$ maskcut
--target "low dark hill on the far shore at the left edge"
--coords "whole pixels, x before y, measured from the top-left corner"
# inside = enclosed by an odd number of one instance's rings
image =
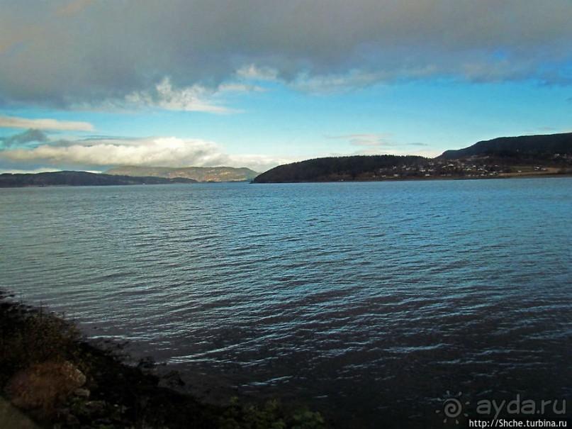
[[[0,174],[0,188],[22,186],[110,186],[130,184],[190,184],[196,180],[164,177],[130,177],[88,172]]]

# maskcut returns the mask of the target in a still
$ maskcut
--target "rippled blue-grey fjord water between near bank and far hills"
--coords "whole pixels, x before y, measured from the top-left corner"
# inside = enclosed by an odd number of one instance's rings
[[[447,391],[469,413],[570,398],[570,178],[0,189],[0,202],[0,287],[194,374],[191,391],[203,377],[354,428],[443,427]]]

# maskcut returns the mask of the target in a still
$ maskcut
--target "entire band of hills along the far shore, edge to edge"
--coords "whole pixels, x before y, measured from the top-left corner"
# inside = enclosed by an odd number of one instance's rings
[[[5,173],[0,174],[0,187],[341,182],[549,174],[572,174],[572,133],[481,140],[459,150],[446,150],[435,158],[415,155],[322,157],[279,165],[262,174],[246,167],[137,166],[116,167],[103,173]]]

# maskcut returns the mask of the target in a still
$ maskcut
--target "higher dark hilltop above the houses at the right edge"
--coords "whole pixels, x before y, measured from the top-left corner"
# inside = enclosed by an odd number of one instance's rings
[[[471,156],[489,156],[538,161],[554,157],[555,154],[572,154],[572,133],[494,138],[464,149],[447,150],[439,157],[460,160]]]

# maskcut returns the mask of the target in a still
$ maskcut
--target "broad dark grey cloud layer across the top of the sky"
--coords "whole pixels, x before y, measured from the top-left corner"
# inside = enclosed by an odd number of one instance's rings
[[[0,102],[216,86],[251,65],[315,84],[571,82],[570,22],[569,0],[0,0]]]

